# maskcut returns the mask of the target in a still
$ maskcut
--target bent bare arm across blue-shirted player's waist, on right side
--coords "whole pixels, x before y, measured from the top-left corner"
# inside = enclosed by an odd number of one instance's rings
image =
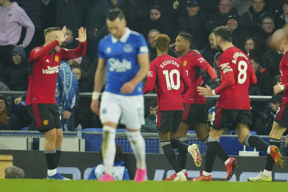
[[[137,56],[138,63],[140,65],[140,70],[134,76],[133,79],[124,83],[124,85],[120,88],[121,93],[129,94],[132,93],[136,87],[147,75],[149,72],[149,55],[142,54]]]

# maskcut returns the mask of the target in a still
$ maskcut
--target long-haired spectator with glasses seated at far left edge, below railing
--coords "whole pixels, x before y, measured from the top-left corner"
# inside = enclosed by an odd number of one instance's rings
[[[0,130],[20,130],[17,117],[11,113],[4,95],[0,94]]]

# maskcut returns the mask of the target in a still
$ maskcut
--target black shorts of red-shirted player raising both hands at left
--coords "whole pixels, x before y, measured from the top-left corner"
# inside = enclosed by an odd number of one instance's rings
[[[51,129],[61,129],[61,119],[57,104],[30,104],[26,106],[32,118],[31,127],[45,133]]]

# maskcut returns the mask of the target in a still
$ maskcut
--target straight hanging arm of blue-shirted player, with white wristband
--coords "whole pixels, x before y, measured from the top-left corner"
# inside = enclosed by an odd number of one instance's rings
[[[104,85],[103,82],[104,82],[104,73],[106,65],[105,61],[106,61],[105,59],[98,58],[98,65],[94,77],[94,89],[92,93],[92,101],[90,108],[92,112],[96,114],[99,113],[99,95]]]

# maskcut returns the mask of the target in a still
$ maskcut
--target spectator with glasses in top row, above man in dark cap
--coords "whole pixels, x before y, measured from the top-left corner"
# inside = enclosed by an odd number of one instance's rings
[[[218,9],[219,11],[217,13],[212,13],[204,24],[208,34],[216,27],[226,26],[227,16],[237,15],[236,10],[232,8],[230,0],[221,0],[218,4]]]

